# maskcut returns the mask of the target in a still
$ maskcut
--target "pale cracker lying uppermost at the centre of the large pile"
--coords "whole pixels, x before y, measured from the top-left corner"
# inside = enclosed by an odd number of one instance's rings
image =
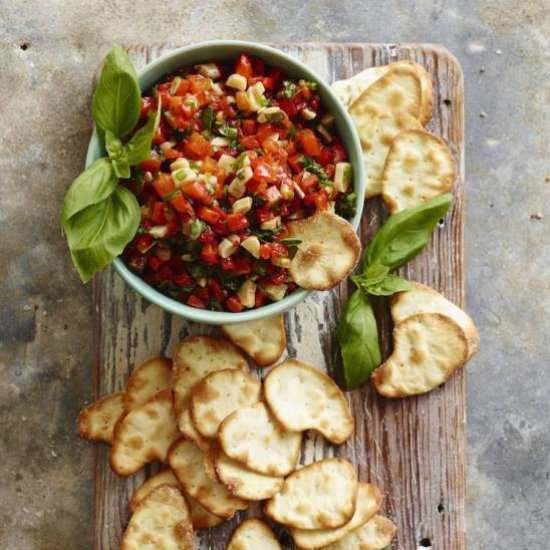
[[[264,403],[229,415],[218,439],[227,456],[268,476],[289,474],[300,458],[302,434],[286,431]]]

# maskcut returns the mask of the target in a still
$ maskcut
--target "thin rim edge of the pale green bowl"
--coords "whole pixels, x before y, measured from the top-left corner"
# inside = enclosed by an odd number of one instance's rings
[[[138,78],[140,80],[140,86],[143,86],[142,81],[159,65],[164,65],[174,58],[179,58],[190,53],[196,53],[197,51],[202,49],[207,50],[209,48],[219,47],[240,48],[260,57],[262,56],[262,54],[267,54],[268,56],[278,58],[280,60],[282,59],[283,63],[293,66],[293,69],[295,69],[296,72],[303,74],[308,80],[315,81],[321,89],[322,94],[330,98],[331,102],[333,103],[330,108],[330,113],[336,116],[336,119],[338,121],[337,124],[347,127],[347,130],[350,134],[351,147],[355,149],[355,156],[358,159],[358,162],[353,164],[354,191],[357,193],[356,213],[353,219],[350,220],[350,223],[352,224],[354,230],[357,231],[361,222],[364,203],[363,196],[365,192],[365,174],[363,163],[361,162],[362,148],[359,141],[359,136],[357,134],[355,125],[351,120],[351,117],[332,91],[330,85],[305,63],[277,48],[258,42],[251,42],[246,40],[208,40],[176,48],[166,53],[165,55],[154,59],[153,61],[142,67],[139,71],[137,71]],[[185,61],[182,61],[182,65],[183,64],[185,64]],[[98,148],[101,149],[102,145],[94,127],[86,154],[86,168],[98,158]],[[349,145],[347,146],[347,148],[349,148]],[[133,290],[146,298],[149,302],[159,306],[165,311],[168,311],[185,319],[212,325],[242,323],[280,314],[293,308],[314,292],[304,289],[296,290],[292,294],[286,296],[278,302],[273,302],[260,308],[244,310],[239,313],[212,311],[188,306],[182,302],[178,302],[162,294],[161,292],[147,284],[141,277],[130,271],[120,257],[115,258],[112,264],[114,265],[115,270],[122,277],[122,279],[130,287],[132,287]]]

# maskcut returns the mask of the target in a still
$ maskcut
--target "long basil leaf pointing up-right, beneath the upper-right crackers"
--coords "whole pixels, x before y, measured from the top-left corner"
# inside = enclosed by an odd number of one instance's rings
[[[452,202],[452,195],[446,193],[390,216],[365,250],[363,269],[376,263],[393,271],[407,263],[426,246]]]

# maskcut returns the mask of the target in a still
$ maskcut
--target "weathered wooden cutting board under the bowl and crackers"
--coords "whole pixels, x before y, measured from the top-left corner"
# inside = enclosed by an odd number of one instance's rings
[[[131,46],[137,67],[175,48],[175,45]],[[347,78],[372,65],[397,59],[422,63],[434,82],[434,116],[429,129],[451,145],[459,166],[455,202],[435,231],[427,249],[410,262],[402,275],[426,283],[453,302],[464,305],[463,77],[456,59],[446,50],[425,44],[291,44],[279,46],[316,70],[327,81]],[[378,200],[368,201],[361,237],[367,243],[385,213]],[[96,278],[95,384],[97,396],[124,388],[132,367],[156,355],[170,355],[174,344],[188,334],[212,334],[218,329],[189,323],[141,299],[113,269]],[[316,293],[286,314],[287,353],[321,369],[338,369],[335,325],[346,300],[343,284],[329,293]],[[378,303],[383,352],[391,346],[391,322],[386,304]],[[369,385],[348,394],[356,419],[355,436],[335,447],[322,437],[304,438],[302,463],[325,456],[342,456],[357,465],[361,480],[379,485],[386,497],[382,513],[397,524],[393,548],[462,550],[464,541],[464,425],[465,379],[458,372],[428,395],[402,400],[380,398]],[[130,479],[115,476],[108,449],[98,446],[95,471],[95,548],[114,550],[129,518],[133,490],[158,469],[151,466]],[[201,532],[200,549],[225,548],[231,531],[252,507],[233,521]],[[83,518],[85,521],[86,518]],[[285,548],[290,537],[281,532]],[[258,549],[261,550],[261,549]]]

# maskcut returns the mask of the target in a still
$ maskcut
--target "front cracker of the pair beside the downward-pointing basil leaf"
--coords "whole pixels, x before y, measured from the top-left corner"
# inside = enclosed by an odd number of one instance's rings
[[[374,371],[372,381],[385,397],[426,393],[448,380],[467,357],[466,335],[450,317],[412,315],[395,326],[393,353]]]

